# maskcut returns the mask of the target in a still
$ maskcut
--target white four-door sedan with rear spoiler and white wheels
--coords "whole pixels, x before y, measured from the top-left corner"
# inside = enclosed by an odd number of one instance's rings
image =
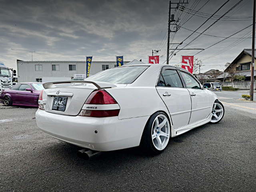
[[[159,154],[171,137],[218,123],[224,107],[186,70],[162,64],[129,65],[85,81],[43,84],[36,123],[42,132],[85,148],[140,146]]]

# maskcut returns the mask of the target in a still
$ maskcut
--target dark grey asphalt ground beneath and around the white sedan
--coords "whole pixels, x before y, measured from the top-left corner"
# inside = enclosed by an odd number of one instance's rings
[[[38,130],[35,108],[0,108],[0,191],[255,191],[256,116],[225,108],[155,157],[136,148],[79,159]]]

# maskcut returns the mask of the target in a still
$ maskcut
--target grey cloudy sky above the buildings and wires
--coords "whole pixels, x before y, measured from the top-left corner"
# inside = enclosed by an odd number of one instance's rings
[[[203,32],[239,1],[230,0],[197,32]],[[171,11],[182,26],[176,34],[171,33],[172,43],[185,40],[192,34],[190,30],[196,30],[226,0],[188,2],[183,11]],[[97,61],[114,61],[115,56],[123,55],[124,60],[148,62],[152,50],[159,49],[160,63],[166,63],[169,0],[0,0],[0,5],[0,60],[9,68],[16,68],[16,59],[31,60],[30,51],[35,51],[33,60],[85,60],[85,56],[93,56]],[[252,24],[252,6],[253,0],[242,0],[204,32],[211,36],[202,34],[186,48],[207,48],[246,28]],[[199,12],[192,16],[190,10]],[[199,54],[199,50],[176,51],[170,64],[179,63],[181,55],[196,54],[203,61],[201,72],[222,70],[244,48],[251,48],[251,30],[252,26]],[[198,33],[178,48],[196,36]]]

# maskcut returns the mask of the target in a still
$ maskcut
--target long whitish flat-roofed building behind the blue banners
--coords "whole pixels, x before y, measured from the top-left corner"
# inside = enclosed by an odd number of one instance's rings
[[[124,64],[129,61],[124,61]],[[93,61],[90,75],[116,67],[115,61]],[[42,77],[74,77],[86,74],[86,61],[21,61],[17,59],[18,82],[42,82]]]

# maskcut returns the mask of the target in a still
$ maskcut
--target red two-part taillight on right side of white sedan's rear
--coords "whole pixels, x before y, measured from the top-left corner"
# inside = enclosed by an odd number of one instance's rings
[[[96,90],[90,94],[84,104],[107,105],[118,104],[116,100],[106,90]],[[85,110],[82,109],[79,116],[87,117],[113,117],[118,116],[120,109],[114,110]]]

